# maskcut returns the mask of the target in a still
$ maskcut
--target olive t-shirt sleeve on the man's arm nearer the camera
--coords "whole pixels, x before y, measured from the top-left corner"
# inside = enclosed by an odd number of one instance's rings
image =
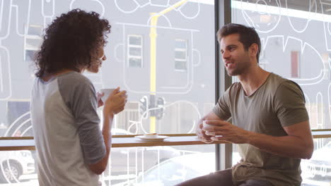
[[[279,85],[274,94],[274,112],[283,127],[309,120],[299,85],[290,80]]]

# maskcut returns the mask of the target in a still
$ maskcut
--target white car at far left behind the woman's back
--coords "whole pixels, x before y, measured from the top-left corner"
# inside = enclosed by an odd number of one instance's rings
[[[1,182],[18,182],[21,175],[35,172],[31,151],[1,151],[0,162]]]

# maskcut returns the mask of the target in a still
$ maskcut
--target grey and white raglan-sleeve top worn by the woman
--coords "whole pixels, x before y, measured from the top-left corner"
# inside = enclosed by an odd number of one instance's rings
[[[36,78],[30,111],[40,186],[98,185],[88,164],[106,151],[91,81],[76,72]]]

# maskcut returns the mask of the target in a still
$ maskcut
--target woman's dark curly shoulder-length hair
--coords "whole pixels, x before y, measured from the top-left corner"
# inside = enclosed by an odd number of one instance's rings
[[[91,54],[106,44],[110,27],[108,20],[93,11],[74,9],[63,13],[45,30],[44,41],[35,56],[35,75],[42,77],[64,69],[79,72],[91,67]]]

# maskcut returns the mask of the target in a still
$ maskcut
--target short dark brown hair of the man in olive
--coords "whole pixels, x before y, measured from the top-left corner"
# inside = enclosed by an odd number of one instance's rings
[[[239,42],[241,42],[244,46],[245,51],[248,51],[248,48],[253,44],[257,44],[259,49],[257,50],[256,58],[257,63],[259,63],[260,52],[261,52],[261,41],[260,37],[255,31],[254,27],[246,27],[245,25],[239,25],[236,23],[228,23],[221,27],[221,29],[217,32],[217,40],[221,42],[223,37],[232,34],[239,34]]]

